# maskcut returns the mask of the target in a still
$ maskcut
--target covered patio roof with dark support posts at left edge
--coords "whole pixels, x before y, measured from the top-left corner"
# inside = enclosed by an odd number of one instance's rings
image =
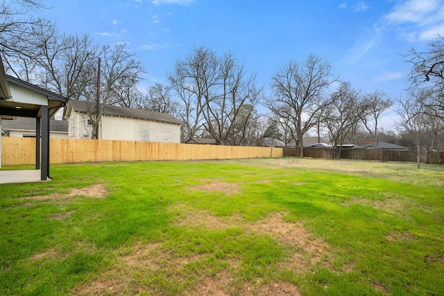
[[[2,119],[14,120],[17,116],[35,118],[35,170],[40,171],[40,180],[42,181],[48,180],[48,178],[51,179],[49,176],[50,118],[61,107],[65,106],[66,101],[66,98],[49,92],[42,87],[6,75],[0,58],[0,130]],[[6,172],[12,174],[12,171]],[[0,178],[2,175],[0,175]]]

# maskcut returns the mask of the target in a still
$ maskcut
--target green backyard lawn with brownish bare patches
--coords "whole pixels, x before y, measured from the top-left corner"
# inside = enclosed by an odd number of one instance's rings
[[[444,291],[440,166],[282,158],[51,175],[0,185],[0,295]]]

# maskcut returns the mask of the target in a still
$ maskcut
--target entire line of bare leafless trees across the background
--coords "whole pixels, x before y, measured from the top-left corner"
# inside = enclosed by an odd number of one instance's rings
[[[207,137],[223,145],[253,146],[269,137],[302,147],[307,134],[316,134],[327,138],[339,157],[343,143],[384,138],[379,121],[395,108],[398,139],[409,135],[418,152],[425,146],[442,149],[441,36],[429,42],[428,51],[411,49],[404,55],[412,68],[409,91],[400,98],[353,87],[314,53],[282,64],[265,94],[256,74],[234,53],[218,54],[206,46],[178,59],[167,73],[168,84],[141,90],[146,69],[126,44],[99,46],[88,34],[62,33],[51,21],[30,16],[35,9],[49,8],[41,0],[1,1],[0,53],[6,71],[67,99],[87,101],[93,137],[103,106],[110,104],[175,115],[183,123],[182,141]],[[258,114],[259,105],[269,112]]]

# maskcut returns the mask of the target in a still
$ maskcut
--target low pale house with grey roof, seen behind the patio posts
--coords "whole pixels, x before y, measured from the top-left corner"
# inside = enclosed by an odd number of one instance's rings
[[[35,119],[17,117],[15,120],[3,120],[1,134],[6,137],[35,138]],[[52,120],[49,122],[49,137],[56,139],[68,138],[68,121]]]

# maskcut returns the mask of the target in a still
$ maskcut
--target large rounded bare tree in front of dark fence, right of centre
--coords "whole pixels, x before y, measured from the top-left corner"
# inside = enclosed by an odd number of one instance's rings
[[[329,103],[325,92],[335,81],[330,64],[316,55],[309,55],[300,64],[290,61],[271,78],[274,96],[266,98],[265,105],[278,119],[285,119],[303,157],[302,137],[316,125],[317,114]]]

